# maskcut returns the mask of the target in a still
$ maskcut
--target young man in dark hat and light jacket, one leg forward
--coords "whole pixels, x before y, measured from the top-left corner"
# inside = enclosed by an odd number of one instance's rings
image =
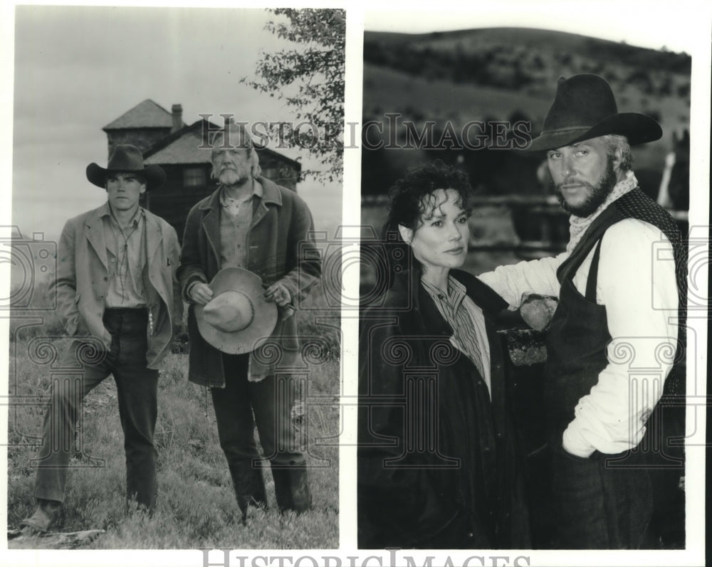
[[[109,374],[124,432],[127,499],[149,510],[155,503],[158,369],[182,301],[173,285],[176,232],[139,201],[163,184],[165,174],[159,166],[145,167],[137,147],[118,145],[106,168],[90,164],[86,175],[108,200],[67,221],[59,240],[50,291],[73,337],[60,366],[77,372],[53,383],[38,456],[38,506],[22,521],[28,531],[47,531],[58,516],[82,400]]]

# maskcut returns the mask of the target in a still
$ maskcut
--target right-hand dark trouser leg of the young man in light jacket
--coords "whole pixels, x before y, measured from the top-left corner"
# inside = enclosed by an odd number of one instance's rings
[[[152,510],[157,492],[153,436],[158,413],[158,371],[146,366],[146,324],[144,312],[122,314],[114,379],[124,432],[126,497]]]

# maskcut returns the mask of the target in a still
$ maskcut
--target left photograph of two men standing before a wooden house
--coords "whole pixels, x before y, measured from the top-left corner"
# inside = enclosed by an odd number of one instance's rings
[[[16,6],[10,549],[338,546],[344,50],[342,9]]]

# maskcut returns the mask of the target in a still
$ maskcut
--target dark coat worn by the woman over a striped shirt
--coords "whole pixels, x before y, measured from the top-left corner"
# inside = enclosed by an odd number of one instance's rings
[[[362,317],[358,531],[362,548],[530,546],[523,470],[515,450],[506,373],[493,327],[506,302],[452,270],[483,309],[492,401],[476,367],[419,282],[396,278],[382,307]]]

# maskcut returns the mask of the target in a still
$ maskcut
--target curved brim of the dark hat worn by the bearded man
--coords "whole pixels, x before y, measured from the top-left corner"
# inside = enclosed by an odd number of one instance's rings
[[[663,130],[651,117],[639,114],[638,112],[620,112],[604,118],[592,127],[566,128],[542,132],[533,139],[525,152],[541,152],[548,149],[557,149],[570,146],[584,140],[605,136],[607,134],[619,134],[627,137],[628,143],[646,144],[660,139]]]

